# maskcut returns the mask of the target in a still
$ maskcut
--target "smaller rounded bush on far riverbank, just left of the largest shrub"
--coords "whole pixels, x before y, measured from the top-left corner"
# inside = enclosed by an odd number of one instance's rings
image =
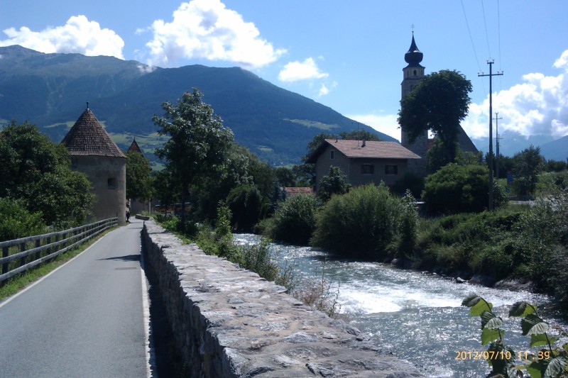
[[[285,243],[307,245],[315,228],[316,200],[297,194],[280,202],[273,217],[273,238]]]

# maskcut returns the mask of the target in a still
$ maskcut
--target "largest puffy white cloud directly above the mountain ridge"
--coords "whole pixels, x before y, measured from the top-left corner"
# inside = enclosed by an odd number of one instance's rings
[[[173,21],[156,20],[146,43],[148,64],[173,67],[180,59],[226,60],[246,68],[268,65],[285,53],[260,38],[253,23],[219,0],[182,3]]]

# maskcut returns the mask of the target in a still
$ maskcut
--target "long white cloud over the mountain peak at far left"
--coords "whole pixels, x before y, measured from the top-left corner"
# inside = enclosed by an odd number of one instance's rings
[[[109,55],[124,59],[124,40],[114,30],[102,29],[85,16],[72,16],[65,26],[49,27],[39,32],[22,26],[4,30],[8,36],[0,46],[21,45],[40,52],[77,52],[83,55]]]

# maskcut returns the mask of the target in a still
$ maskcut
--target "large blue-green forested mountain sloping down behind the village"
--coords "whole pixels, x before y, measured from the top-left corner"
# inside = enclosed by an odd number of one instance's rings
[[[0,48],[0,122],[35,123],[59,142],[89,101],[119,147],[132,139],[152,157],[161,143],[152,116],[197,87],[203,101],[233,130],[235,139],[272,165],[300,162],[319,133],[369,126],[304,96],[281,89],[241,68],[191,65],[164,69],[115,57],[44,54],[21,46]]]

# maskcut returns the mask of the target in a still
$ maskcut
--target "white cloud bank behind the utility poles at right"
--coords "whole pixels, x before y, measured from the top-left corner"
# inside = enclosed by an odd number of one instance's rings
[[[530,135],[568,135],[568,50],[555,61],[553,67],[562,72],[558,76],[530,73],[523,83],[493,94],[493,111],[499,113],[499,133],[514,131],[528,138]],[[463,123],[472,138],[488,137],[489,99],[482,104],[471,104]],[[495,118],[495,114],[492,115]],[[493,133],[495,131],[493,121]]]

